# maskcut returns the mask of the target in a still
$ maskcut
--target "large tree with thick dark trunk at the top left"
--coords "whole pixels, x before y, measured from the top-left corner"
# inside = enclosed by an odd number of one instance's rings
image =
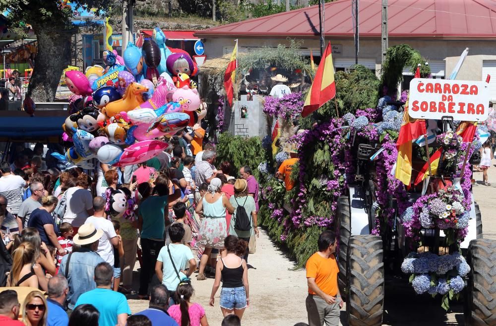
[[[62,71],[70,63],[71,35],[77,29],[71,19],[79,8],[96,8],[100,15],[119,0],[71,0],[75,9],[61,0],[0,0],[0,9],[8,9],[10,28],[20,30],[30,24],[38,40],[36,66],[27,96],[35,101],[53,101]]]

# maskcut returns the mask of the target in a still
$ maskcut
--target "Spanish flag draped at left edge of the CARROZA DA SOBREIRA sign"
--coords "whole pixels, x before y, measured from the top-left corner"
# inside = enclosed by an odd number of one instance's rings
[[[412,140],[427,134],[425,120],[410,121],[408,116],[408,101],[405,104],[403,112],[403,124],[401,125],[400,134],[396,141],[398,149],[398,158],[396,160],[396,179],[403,184],[410,186],[412,178]]]

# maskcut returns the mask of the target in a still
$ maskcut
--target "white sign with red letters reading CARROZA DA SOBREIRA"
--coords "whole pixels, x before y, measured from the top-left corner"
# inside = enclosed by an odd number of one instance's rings
[[[460,121],[485,121],[489,115],[489,84],[414,78],[408,103],[408,114],[414,119],[440,120],[448,116]]]

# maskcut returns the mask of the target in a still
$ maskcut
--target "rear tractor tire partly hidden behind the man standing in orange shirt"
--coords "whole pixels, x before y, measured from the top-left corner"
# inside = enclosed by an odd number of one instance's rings
[[[348,254],[348,242],[351,236],[351,210],[350,199],[348,196],[341,196],[338,198],[338,239],[339,239],[339,252],[338,252],[338,285],[343,299],[346,300],[348,292],[346,289],[346,255]]]

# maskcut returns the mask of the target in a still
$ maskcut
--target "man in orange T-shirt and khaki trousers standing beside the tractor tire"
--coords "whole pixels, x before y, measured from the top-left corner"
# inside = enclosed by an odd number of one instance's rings
[[[318,251],[307,261],[307,314],[309,326],[338,326],[340,309],[343,300],[338,287],[339,268],[334,252],[336,251],[336,235],[332,231],[324,231],[318,237]]]

